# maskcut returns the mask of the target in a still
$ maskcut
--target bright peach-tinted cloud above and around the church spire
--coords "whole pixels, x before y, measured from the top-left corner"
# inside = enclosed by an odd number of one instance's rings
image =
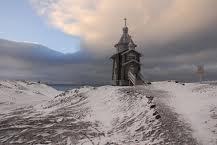
[[[92,52],[108,53],[119,39],[122,19],[140,46],[165,44],[216,27],[215,0],[32,0],[48,22],[80,36]]]

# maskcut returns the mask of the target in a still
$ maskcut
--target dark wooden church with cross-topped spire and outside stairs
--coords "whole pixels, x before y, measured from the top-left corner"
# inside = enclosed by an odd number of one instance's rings
[[[128,34],[128,27],[125,20],[123,34],[120,41],[115,45],[117,49],[111,59],[113,60],[112,81],[115,86],[142,85],[142,75],[140,73],[142,56],[135,50],[137,45]]]

